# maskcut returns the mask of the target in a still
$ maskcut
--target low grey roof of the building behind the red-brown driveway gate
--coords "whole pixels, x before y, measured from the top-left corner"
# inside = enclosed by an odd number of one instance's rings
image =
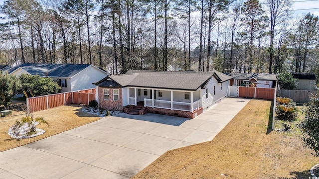
[[[256,80],[269,80],[269,81],[276,81],[277,74],[253,74],[253,73],[230,73],[229,76],[233,77],[236,80],[249,80],[251,78],[255,78]]]

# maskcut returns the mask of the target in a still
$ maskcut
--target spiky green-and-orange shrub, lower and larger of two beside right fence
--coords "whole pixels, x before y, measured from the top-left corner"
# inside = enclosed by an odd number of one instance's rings
[[[278,105],[276,108],[276,118],[279,120],[293,121],[298,117],[299,109],[295,106]]]

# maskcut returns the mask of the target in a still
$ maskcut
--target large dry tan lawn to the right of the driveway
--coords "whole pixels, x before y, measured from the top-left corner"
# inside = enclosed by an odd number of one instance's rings
[[[308,179],[318,158],[298,133],[267,134],[270,108],[251,100],[212,141],[168,151],[134,179]]]

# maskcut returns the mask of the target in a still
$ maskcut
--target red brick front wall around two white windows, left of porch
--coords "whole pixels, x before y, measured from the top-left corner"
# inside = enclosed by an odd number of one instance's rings
[[[109,89],[109,100],[104,100],[104,89]],[[119,100],[113,100],[113,89],[119,89]],[[106,110],[123,111],[122,88],[98,88],[99,90],[99,107]]]

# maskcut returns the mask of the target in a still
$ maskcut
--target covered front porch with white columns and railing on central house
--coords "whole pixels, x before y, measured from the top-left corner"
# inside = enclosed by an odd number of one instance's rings
[[[189,112],[202,107],[200,90],[129,88],[129,105],[138,103],[144,107]]]

